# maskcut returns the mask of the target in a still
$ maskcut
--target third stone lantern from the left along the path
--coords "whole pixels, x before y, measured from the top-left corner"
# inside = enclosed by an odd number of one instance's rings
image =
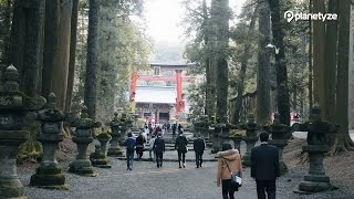
[[[77,156],[76,159],[69,165],[69,171],[82,176],[97,176],[87,158],[87,146],[93,140],[92,129],[101,127],[101,123],[88,118],[87,107],[83,106],[81,118],[75,122],[74,127],[76,127],[76,129],[72,139],[77,145]]]

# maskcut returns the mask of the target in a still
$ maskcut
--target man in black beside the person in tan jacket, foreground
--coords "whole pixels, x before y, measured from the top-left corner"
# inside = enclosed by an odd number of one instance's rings
[[[261,145],[251,150],[251,177],[256,179],[258,199],[275,199],[275,179],[280,176],[278,148],[269,145],[269,134],[259,135]]]

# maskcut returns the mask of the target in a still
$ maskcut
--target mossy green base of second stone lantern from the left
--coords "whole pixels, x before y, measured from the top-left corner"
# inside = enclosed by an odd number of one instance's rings
[[[69,189],[69,185],[65,184],[65,176],[61,174],[58,164],[44,164],[37,168],[35,174],[31,177],[30,186],[45,189]]]

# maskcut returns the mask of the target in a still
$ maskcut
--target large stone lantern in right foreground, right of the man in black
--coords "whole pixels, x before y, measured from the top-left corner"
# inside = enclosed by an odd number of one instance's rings
[[[308,132],[308,145],[303,146],[302,150],[309,154],[310,169],[294,192],[311,193],[331,189],[330,177],[324,171],[323,154],[331,148],[326,134],[336,133],[337,126],[322,121],[321,107],[314,105],[310,113],[310,122],[299,127]]]

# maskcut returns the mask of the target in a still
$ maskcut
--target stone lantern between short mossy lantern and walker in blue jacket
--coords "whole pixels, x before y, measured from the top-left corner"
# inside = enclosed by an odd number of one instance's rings
[[[121,140],[121,129],[123,124],[121,123],[118,118],[118,113],[114,113],[114,118],[111,122],[110,126],[112,129],[112,139],[111,139],[111,146],[108,148],[108,156],[123,156],[123,149],[119,146]]]

